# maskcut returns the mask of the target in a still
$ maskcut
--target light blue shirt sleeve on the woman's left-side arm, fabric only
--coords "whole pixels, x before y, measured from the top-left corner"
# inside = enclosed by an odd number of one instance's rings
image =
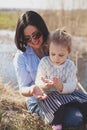
[[[16,54],[13,60],[19,88],[32,84],[32,79],[29,71],[26,69],[25,57],[22,54]]]

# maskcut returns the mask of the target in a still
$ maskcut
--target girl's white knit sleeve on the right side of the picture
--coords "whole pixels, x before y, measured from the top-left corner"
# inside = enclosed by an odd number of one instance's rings
[[[68,94],[72,93],[76,89],[77,77],[76,77],[76,66],[73,62],[68,66],[68,73],[66,82],[63,83],[62,93]]]

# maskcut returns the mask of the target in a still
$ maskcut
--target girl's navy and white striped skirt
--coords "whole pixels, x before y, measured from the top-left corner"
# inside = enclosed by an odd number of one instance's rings
[[[75,90],[72,94],[59,94],[57,91],[52,91],[48,94],[47,99],[39,100],[38,104],[44,113],[45,121],[51,124],[54,119],[54,113],[59,107],[73,101],[87,102],[87,95],[80,90]]]

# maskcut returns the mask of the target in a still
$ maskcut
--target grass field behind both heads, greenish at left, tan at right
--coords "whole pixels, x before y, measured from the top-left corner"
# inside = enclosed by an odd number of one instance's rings
[[[0,11],[0,29],[15,29],[18,17],[24,11]],[[64,27],[72,35],[87,36],[87,10],[38,11],[49,30]]]

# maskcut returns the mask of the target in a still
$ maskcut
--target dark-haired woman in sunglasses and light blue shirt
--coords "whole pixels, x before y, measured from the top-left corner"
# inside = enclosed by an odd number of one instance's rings
[[[41,117],[42,112],[33,96],[36,91],[34,81],[40,59],[48,55],[48,34],[47,26],[38,13],[27,11],[19,17],[15,34],[18,51],[14,57],[19,90],[27,97],[29,112],[37,113]]]

